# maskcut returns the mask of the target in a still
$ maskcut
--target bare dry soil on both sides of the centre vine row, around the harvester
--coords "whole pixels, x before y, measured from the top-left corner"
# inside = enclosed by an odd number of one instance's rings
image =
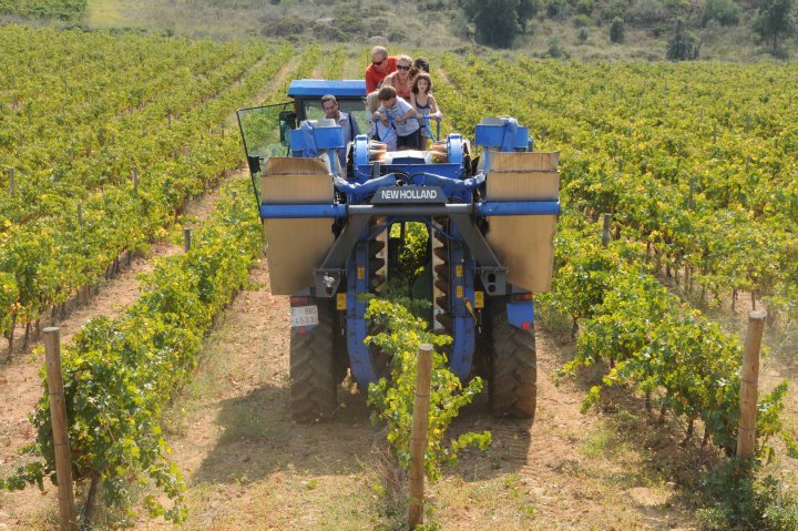
[[[341,389],[328,422],[290,420],[288,300],[270,295],[265,263],[252,279],[259,288],[233,303],[168,413],[167,438],[190,484],[188,522],[142,519],[135,529],[399,529],[403,509],[385,494],[383,435],[362,395]],[[431,486],[434,520],[458,530],[697,529],[684,493],[657,470],[675,442],[661,433],[633,440],[611,418],[582,415],[590,381],[556,381],[571,348],[557,341],[539,330],[534,423],[494,419],[485,397],[456,422],[456,433],[491,430],[494,443],[487,456],[466,452]]]

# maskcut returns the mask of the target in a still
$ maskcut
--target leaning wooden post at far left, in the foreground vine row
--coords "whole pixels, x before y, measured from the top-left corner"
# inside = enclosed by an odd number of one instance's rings
[[[75,531],[74,492],[72,490],[72,456],[69,446],[66,404],[61,377],[60,329],[44,328],[44,357],[47,360],[50,418],[55,450],[55,478],[59,488],[59,513],[61,531]]]

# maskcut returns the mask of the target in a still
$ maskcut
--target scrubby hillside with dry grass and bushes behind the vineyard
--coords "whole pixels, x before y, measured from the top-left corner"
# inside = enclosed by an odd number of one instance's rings
[[[735,0],[191,0],[122,2],[0,0],[0,20],[52,19],[86,29],[140,30],[216,40],[265,37],[335,43],[389,43],[459,49],[501,45],[535,57],[662,60],[678,41],[682,55],[749,61],[795,55],[795,0],[771,38],[755,29],[757,1]],[[500,13],[497,16],[495,13]],[[684,24],[677,30],[678,22]],[[675,39],[681,31],[679,39]],[[490,34],[488,33],[490,32]],[[613,33],[611,35],[611,33]],[[514,35],[514,37],[513,37]]]

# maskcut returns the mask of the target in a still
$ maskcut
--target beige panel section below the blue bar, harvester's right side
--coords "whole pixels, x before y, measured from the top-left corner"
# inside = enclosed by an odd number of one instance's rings
[[[508,268],[508,280],[534,293],[551,288],[556,216],[493,216],[488,243]]]

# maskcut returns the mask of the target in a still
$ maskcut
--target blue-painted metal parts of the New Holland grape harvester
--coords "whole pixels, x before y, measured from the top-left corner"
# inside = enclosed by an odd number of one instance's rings
[[[360,80],[323,81],[323,80],[297,80],[291,83],[288,95],[295,98],[321,96],[331,93],[336,96],[362,96],[366,94],[365,83]],[[315,132],[314,132],[315,133]],[[303,136],[300,133],[291,133],[291,146],[298,156],[310,156],[304,153],[308,142],[313,141],[316,146],[335,144],[335,139],[328,135],[317,139],[307,131]],[[308,140],[310,139],[310,140]],[[301,145],[300,145],[301,144]],[[477,144],[483,147],[493,147],[501,151],[513,151],[529,145],[529,133],[525,127],[510,119],[501,123],[489,123],[478,125]],[[330,144],[331,145],[331,144]],[[369,161],[369,141],[366,135],[358,135],[352,144],[354,172],[349,178],[335,177],[335,187],[339,194],[346,196],[346,203],[330,202],[330,204],[262,204],[260,217],[263,218],[332,218],[337,219],[339,226],[341,221],[349,215],[370,215],[371,207],[369,198],[380,186],[395,186],[398,184],[412,184],[417,186],[439,186],[447,195],[449,203],[460,204],[458,208],[467,208],[474,217],[485,216],[513,216],[513,215],[557,215],[560,214],[560,202],[556,198],[551,201],[524,201],[524,202],[473,202],[474,192],[483,186],[484,174],[466,178],[466,152],[463,139],[458,134],[447,136],[448,163],[426,164],[419,163],[413,156],[403,160],[397,157],[396,163],[380,166],[380,175],[374,176],[375,164]],[[483,155],[487,155],[487,150]],[[485,157],[487,159],[487,157]],[[489,161],[487,161],[489,164]],[[488,169],[488,166],[485,166]],[[487,171],[487,170],[485,170]],[[357,210],[349,211],[349,205],[357,205]],[[374,205],[375,211],[382,205]],[[451,224],[448,231],[437,226],[432,215],[439,215],[442,205],[388,205],[383,212],[388,217],[388,226],[397,222],[417,221],[426,223],[431,231],[446,237],[449,242],[449,300],[451,302],[452,337],[449,365],[451,370],[461,379],[468,378],[473,365],[475,349],[477,309],[474,297],[474,282],[478,277],[477,262],[472,256],[466,239],[458,231],[457,225]],[[451,205],[450,205],[451,206]],[[438,208],[436,214],[429,214],[431,210]],[[451,212],[451,211],[450,211]],[[462,214],[462,210],[460,213]],[[398,215],[397,215],[398,214]],[[347,350],[354,378],[361,386],[377,381],[371,348],[364,344],[368,335],[365,313],[367,303],[360,294],[369,293],[369,242],[376,234],[387,229],[380,226],[365,228],[357,238],[354,252],[346,261],[346,330]],[[513,289],[518,293],[518,288]],[[309,293],[304,290],[303,294]],[[508,320],[512,326],[529,329],[534,319],[534,305],[532,300],[512,300],[507,297]]]

